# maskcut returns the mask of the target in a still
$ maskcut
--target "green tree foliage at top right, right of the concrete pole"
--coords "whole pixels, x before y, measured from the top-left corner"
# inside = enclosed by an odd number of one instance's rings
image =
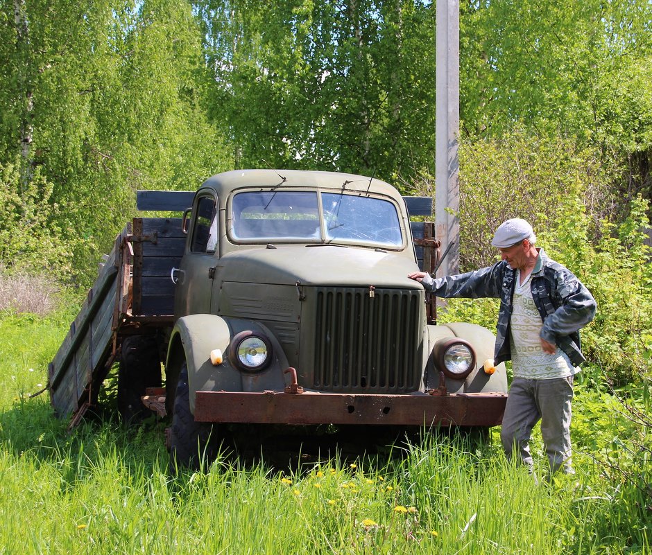
[[[620,152],[649,150],[646,0],[461,5],[461,120],[472,136],[515,123]]]

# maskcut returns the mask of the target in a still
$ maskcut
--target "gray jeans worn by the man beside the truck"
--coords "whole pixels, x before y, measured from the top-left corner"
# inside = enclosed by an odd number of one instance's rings
[[[551,380],[514,378],[509,389],[500,439],[508,458],[514,450],[520,460],[533,468],[530,435],[541,421],[541,435],[551,474],[560,468],[572,474],[570,422],[573,376]]]

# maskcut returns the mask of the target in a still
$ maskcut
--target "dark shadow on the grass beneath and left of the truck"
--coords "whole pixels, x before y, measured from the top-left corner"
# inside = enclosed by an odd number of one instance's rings
[[[23,398],[0,412],[0,445],[16,457],[28,452],[37,461],[66,461],[74,467],[94,466],[117,455],[134,472],[166,472],[168,468],[167,421],[151,416],[139,425],[127,426],[112,403],[101,403],[73,430],[68,430],[68,424],[69,419],[55,417],[46,396]],[[461,449],[481,446],[486,439],[483,433],[404,427],[220,425],[216,429],[223,463],[243,470],[264,466],[272,474],[301,474],[325,464],[385,466],[409,456],[410,446],[438,438],[460,440]],[[204,468],[209,466],[204,464]]]

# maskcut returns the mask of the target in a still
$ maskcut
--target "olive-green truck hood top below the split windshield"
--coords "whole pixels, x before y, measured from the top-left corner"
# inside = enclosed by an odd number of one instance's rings
[[[418,270],[405,253],[333,245],[241,250],[225,254],[217,266],[221,281],[401,289],[422,288],[408,277]]]

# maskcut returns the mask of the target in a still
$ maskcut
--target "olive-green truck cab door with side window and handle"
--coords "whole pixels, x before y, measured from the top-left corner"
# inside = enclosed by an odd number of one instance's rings
[[[214,193],[198,193],[178,272],[174,302],[177,318],[210,312],[213,272],[219,256],[218,215]]]

